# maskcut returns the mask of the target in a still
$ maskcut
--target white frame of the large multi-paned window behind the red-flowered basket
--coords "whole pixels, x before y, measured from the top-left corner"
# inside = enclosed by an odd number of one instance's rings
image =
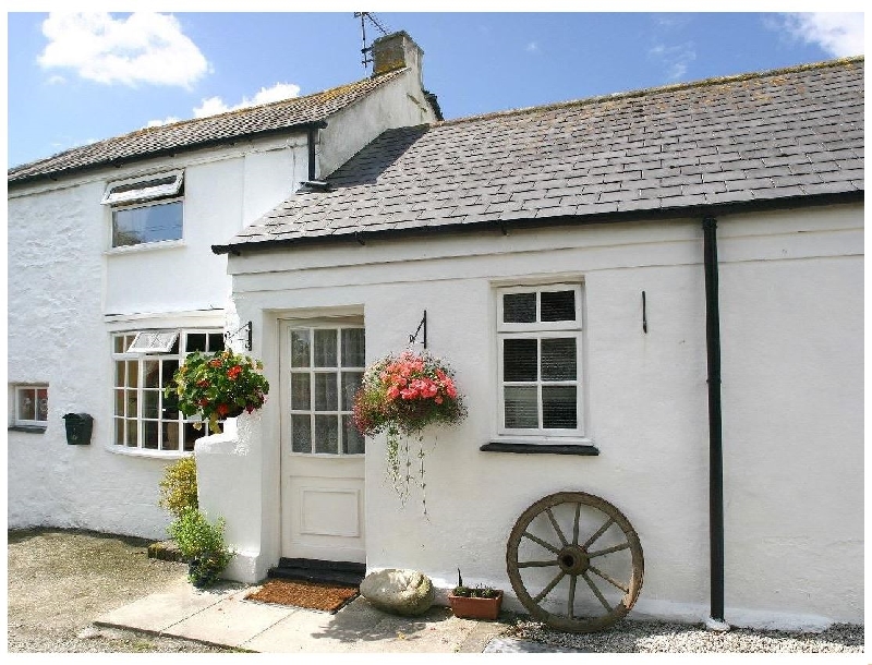
[[[143,349],[138,349],[137,350],[137,349],[133,349],[133,346],[135,344],[135,340],[137,338],[140,338],[140,336],[143,332],[146,332],[146,334],[150,334],[150,332],[164,332],[164,334],[175,332],[175,339],[178,339],[178,342],[179,342],[179,352],[178,353],[169,353],[169,352],[162,352],[162,351],[157,350],[157,349],[154,349],[154,350],[143,350]],[[158,413],[157,418],[145,418],[144,413],[143,413],[143,410],[144,410],[144,407],[145,407],[144,395],[145,395],[146,390],[149,390],[149,391],[150,390],[155,390],[153,388],[148,388],[147,389],[145,387],[145,385],[144,385],[144,383],[145,383],[146,362],[156,361],[158,363],[162,363],[162,361],[167,361],[167,360],[178,360],[179,366],[181,366],[182,363],[184,363],[184,359],[187,355],[190,355],[191,353],[193,353],[193,351],[185,351],[185,348],[186,348],[186,344],[187,344],[187,337],[190,335],[205,335],[206,336],[206,346],[207,346],[207,351],[206,352],[207,353],[214,352],[213,350],[209,349],[209,346],[208,346],[208,336],[209,335],[220,335],[221,339],[223,340],[223,329],[216,328],[216,327],[208,327],[208,328],[179,328],[179,329],[175,329],[175,330],[167,330],[166,328],[164,328],[164,329],[116,330],[116,331],[112,331],[110,334],[110,337],[109,337],[110,347],[109,348],[110,348],[111,363],[112,363],[112,370],[111,370],[112,386],[111,386],[111,397],[110,397],[110,399],[111,399],[110,403],[111,403],[111,414],[112,414],[112,427],[111,427],[111,435],[110,435],[110,442],[111,443],[108,446],[108,448],[110,450],[116,451],[116,452],[125,452],[125,454],[129,454],[129,455],[144,455],[144,456],[153,456],[153,457],[183,457],[183,456],[187,456],[187,455],[192,454],[192,450],[185,450],[185,442],[184,442],[185,426],[191,424],[191,423],[201,422],[201,419],[198,416],[194,415],[194,416],[187,418],[181,411],[179,411],[177,418],[173,419],[173,420],[170,420],[170,419],[165,419],[164,418],[162,410],[161,410],[160,413]],[[116,351],[116,339],[119,338],[119,337],[120,338],[124,338],[124,337],[132,337],[133,338],[133,340],[131,341],[131,344],[128,346],[126,348],[123,348],[120,352]],[[174,343],[174,340],[170,344],[170,349],[172,348],[173,343]],[[226,341],[223,343],[226,344]],[[135,390],[136,390],[136,419],[135,419],[136,420],[136,445],[135,446],[129,446],[129,445],[126,445],[126,443],[119,443],[118,442],[118,430],[117,430],[118,421],[122,421],[122,422],[126,423],[126,421],[133,420],[133,419],[131,416],[128,416],[126,414],[119,415],[118,413],[116,413],[116,403],[117,403],[116,400],[118,398],[118,390],[122,389],[124,392],[126,392],[128,390],[131,390],[131,388],[130,388],[130,378],[126,376],[126,374],[124,376],[124,385],[123,385],[123,387],[120,387],[118,385],[118,378],[117,378],[117,374],[116,374],[116,371],[117,371],[116,363],[117,362],[124,362],[125,363],[125,372],[128,371],[128,367],[129,367],[128,363],[130,363],[130,362],[135,362],[136,363],[136,372],[137,372],[137,374],[136,374],[136,388],[135,388]],[[161,372],[162,372],[162,366],[161,366]],[[164,377],[164,382],[161,382],[161,383],[166,383],[166,380],[168,380],[168,378],[169,377]],[[164,388],[160,387],[160,388],[157,389],[157,391],[160,394],[160,396],[158,398],[158,400],[159,400],[158,403],[162,404],[164,403],[164,397],[162,397]],[[146,422],[157,423],[157,427],[158,427],[158,447],[157,448],[147,448],[144,445],[145,444],[145,423]],[[174,424],[174,426],[178,427],[179,446],[178,446],[177,449],[164,449],[164,428],[162,428],[164,423],[171,423],[171,424]],[[124,427],[126,427],[126,424],[124,425]],[[204,425],[204,430],[202,430],[201,432],[202,432],[201,436],[206,436],[208,434],[208,431],[205,430],[205,425]]]

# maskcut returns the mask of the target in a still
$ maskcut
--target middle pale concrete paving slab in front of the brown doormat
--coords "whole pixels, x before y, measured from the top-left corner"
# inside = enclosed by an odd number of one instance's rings
[[[296,612],[298,607],[245,601],[250,590],[226,597],[170,626],[164,634],[238,648]]]

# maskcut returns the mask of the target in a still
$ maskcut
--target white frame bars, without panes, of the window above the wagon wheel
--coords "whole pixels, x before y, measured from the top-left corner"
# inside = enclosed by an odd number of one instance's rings
[[[543,292],[573,291],[576,300],[576,317],[572,321],[541,321]],[[504,297],[514,293],[536,293],[536,321],[534,323],[505,323]],[[536,283],[530,286],[499,287],[497,295],[497,435],[500,439],[513,439],[530,444],[589,444],[584,422],[584,366],[583,366],[583,290],[580,283]],[[537,367],[535,382],[506,382],[504,379],[504,340],[572,338],[576,340],[576,378],[573,380],[543,380],[541,341],[537,350]],[[576,387],[576,424],[573,428],[545,427],[506,427],[506,386],[535,386],[538,423],[543,423],[543,386]]]

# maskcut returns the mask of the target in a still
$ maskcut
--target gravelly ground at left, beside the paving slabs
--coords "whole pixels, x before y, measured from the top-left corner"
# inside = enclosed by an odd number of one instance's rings
[[[184,564],[149,559],[148,543],[142,539],[87,531],[9,531],[9,651],[231,651],[187,640],[92,626],[101,614],[185,578]]]

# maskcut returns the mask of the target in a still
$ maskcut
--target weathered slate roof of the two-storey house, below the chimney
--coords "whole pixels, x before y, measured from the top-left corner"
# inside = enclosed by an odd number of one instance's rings
[[[294,128],[299,130],[301,125],[326,120],[331,113],[354,104],[403,71],[405,70],[393,70],[305,97],[145,128],[123,136],[71,148],[46,159],[13,167],[8,172],[9,184],[117,166],[240,138],[287,132]]]

